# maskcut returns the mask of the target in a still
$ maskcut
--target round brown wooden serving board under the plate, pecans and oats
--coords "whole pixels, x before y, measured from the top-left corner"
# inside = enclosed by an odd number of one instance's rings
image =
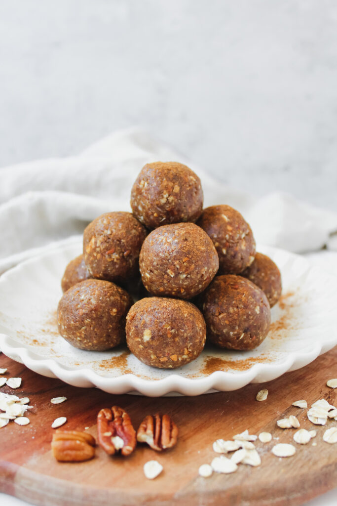
[[[325,398],[335,404],[336,391],[326,387],[326,381],[337,376],[336,364],[337,347],[312,364],[263,385],[200,397],[147,398],[70,387],[0,355],[0,367],[8,368],[6,376],[23,378],[20,389],[12,391],[5,386],[0,391],[27,396],[34,406],[28,414],[30,425],[20,427],[10,421],[0,429],[0,491],[49,506],[302,504],[337,486],[337,444],[322,440],[326,428],[337,423],[329,420],[325,427],[313,426],[305,411],[292,403],[305,399],[310,406]],[[268,389],[268,399],[257,402],[255,396],[261,388]],[[51,398],[58,396],[68,400],[51,404]],[[55,418],[67,416],[64,428],[87,430],[97,436],[98,411],[114,404],[129,412],[135,428],[146,414],[169,413],[180,430],[177,446],[156,453],[139,445],[128,458],[109,457],[97,448],[93,460],[81,463],[59,463],[54,459],[50,442]],[[312,441],[307,445],[294,443],[295,456],[281,459],[270,450],[278,442],[293,442],[295,429],[276,426],[277,419],[290,414],[298,416],[302,428],[317,430],[312,440],[317,445],[312,446]],[[268,431],[279,438],[267,444],[256,442],[262,465],[239,465],[234,474],[199,477],[199,466],[216,456],[213,441],[231,439],[245,429],[251,434]],[[147,480],[142,470],[143,464],[152,459],[164,467],[153,481]]]

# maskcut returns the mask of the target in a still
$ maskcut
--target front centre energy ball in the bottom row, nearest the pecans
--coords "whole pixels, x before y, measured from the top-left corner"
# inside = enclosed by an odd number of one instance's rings
[[[205,320],[190,302],[164,297],[141,299],[126,317],[127,345],[147,365],[180,367],[201,354],[205,341]]]

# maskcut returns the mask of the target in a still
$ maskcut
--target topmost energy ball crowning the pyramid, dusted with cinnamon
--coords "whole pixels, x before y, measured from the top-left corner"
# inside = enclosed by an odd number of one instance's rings
[[[150,229],[195,222],[201,215],[203,200],[197,174],[174,161],[147,163],[131,190],[132,212]]]

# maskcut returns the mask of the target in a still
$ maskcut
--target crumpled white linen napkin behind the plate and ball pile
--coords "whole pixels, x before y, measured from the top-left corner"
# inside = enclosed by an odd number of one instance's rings
[[[45,248],[78,238],[87,223],[129,210],[130,190],[149,161],[181,161],[201,178],[205,206],[229,204],[259,243],[295,252],[337,250],[337,215],[275,192],[256,198],[225,186],[183,155],[139,130],[116,132],[77,156],[0,169],[0,274]]]

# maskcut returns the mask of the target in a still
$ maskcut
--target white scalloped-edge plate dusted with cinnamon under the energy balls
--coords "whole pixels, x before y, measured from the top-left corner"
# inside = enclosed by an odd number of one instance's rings
[[[270,381],[299,369],[337,344],[336,278],[303,257],[260,247],[279,266],[283,296],[272,309],[267,339],[250,352],[206,348],[179,369],[146,366],[126,348],[108,352],[77,350],[56,326],[60,280],[81,244],[67,244],[25,261],[0,278],[0,348],[13,360],[44,376],[76,387],[106,392],[200,395]]]

